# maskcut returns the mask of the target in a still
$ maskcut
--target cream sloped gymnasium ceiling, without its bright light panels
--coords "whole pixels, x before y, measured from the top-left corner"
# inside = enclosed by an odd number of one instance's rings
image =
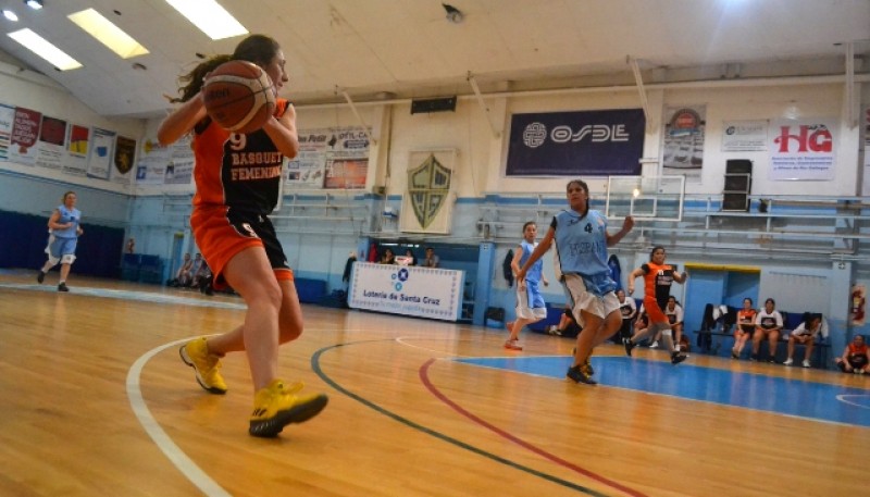
[[[0,0],[0,71],[57,82],[101,115],[149,117],[170,107],[177,76],[197,53],[229,53],[240,37],[212,41],[165,0]],[[297,103],[472,95],[870,72],[870,0],[219,0],[250,33],[275,37]],[[94,8],[149,54],[122,60],[66,16]],[[84,64],[51,65],[7,33],[29,27]],[[134,63],[146,69],[134,69]],[[337,91],[338,90],[338,91]],[[5,102],[15,103],[15,102]]]

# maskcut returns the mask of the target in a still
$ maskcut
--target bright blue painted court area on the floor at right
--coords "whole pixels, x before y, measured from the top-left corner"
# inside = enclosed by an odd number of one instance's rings
[[[455,361],[560,380],[564,378],[571,365],[568,357],[464,358]],[[870,426],[870,389],[700,368],[686,362],[674,366],[670,362],[641,358],[594,357],[592,364],[599,387],[613,386]],[[870,386],[870,378],[867,380]]]

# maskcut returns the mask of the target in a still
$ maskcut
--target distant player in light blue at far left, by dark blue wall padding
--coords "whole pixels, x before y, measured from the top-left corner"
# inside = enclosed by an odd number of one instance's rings
[[[48,261],[42,264],[36,281],[42,283],[46,273],[51,268],[61,263],[61,281],[58,283],[58,291],[70,291],[66,287],[66,278],[70,277],[70,266],[75,261],[75,246],[78,237],[85,233],[82,229],[82,212],[75,208],[77,198],[74,191],[63,194],[63,204],[54,209],[51,218],[48,219],[48,247],[46,253]]]

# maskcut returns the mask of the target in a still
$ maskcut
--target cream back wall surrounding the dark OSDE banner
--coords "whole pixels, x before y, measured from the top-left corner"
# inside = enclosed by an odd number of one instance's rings
[[[644,157],[660,159],[662,110],[666,107],[706,105],[704,169],[700,182],[687,182],[686,192],[719,195],[722,192],[725,161],[749,159],[755,162],[754,195],[855,196],[859,195],[858,148],[860,126],[843,123],[837,132],[835,177],[830,182],[780,182],[768,175],[767,152],[721,151],[722,123],[725,121],[774,121],[795,111],[806,117],[843,116],[843,85],[815,84],[787,86],[709,87],[693,89],[651,89],[648,91],[649,122]],[[457,192],[459,197],[481,197],[485,192],[562,192],[568,178],[506,177],[507,137],[510,115],[527,112],[566,110],[602,110],[639,108],[636,88],[614,91],[575,91],[561,95],[523,94],[485,99],[489,115],[473,98],[460,98],[456,112],[411,114],[409,102],[394,103],[391,109],[358,107],[368,124],[382,123],[375,131],[375,184],[386,184],[388,195],[405,190],[408,157],[413,150],[456,149]],[[347,126],[358,123],[346,105],[336,109],[299,109],[299,127]],[[487,121],[490,120],[493,123]],[[496,137],[493,126],[499,132]],[[373,160],[371,164],[375,164]],[[655,169],[655,167],[654,167]],[[648,171],[647,174],[659,174]],[[585,178],[593,191],[601,191],[604,178]],[[370,185],[370,186],[374,186]]]

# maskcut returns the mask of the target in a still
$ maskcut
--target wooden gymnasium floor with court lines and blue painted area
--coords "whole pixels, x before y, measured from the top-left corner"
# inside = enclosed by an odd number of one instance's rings
[[[0,272],[2,496],[870,495],[867,377],[607,345],[589,387],[571,339],[303,306],[281,368],[330,405],[258,439],[244,355],[213,396],[177,353],[240,299],[34,275]]]

